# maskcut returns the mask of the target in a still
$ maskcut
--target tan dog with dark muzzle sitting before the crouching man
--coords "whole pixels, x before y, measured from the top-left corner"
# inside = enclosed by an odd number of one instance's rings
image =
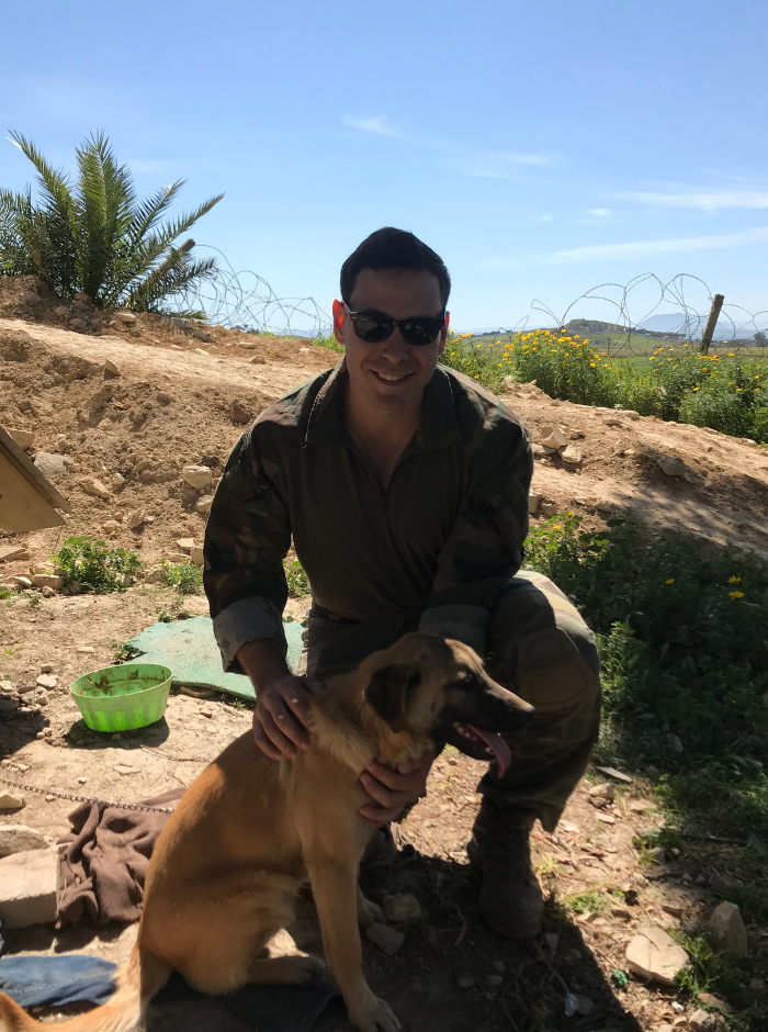
[[[509,748],[493,732],[521,728],[533,710],[492,681],[472,649],[426,635],[406,635],[307,700],[312,744],[293,762],[263,755],[249,731],[190,785],[158,839],[117,991],[57,1029],[134,1032],[172,971],[211,995],[306,981],[323,971],[319,961],[259,953],[291,923],[307,879],[352,1023],[361,1032],[399,1029],[362,973],[358,923],[373,918],[358,867],[374,826],[358,814],[370,801],[358,778],[373,760],[394,769],[447,741],[496,755],[504,770]],[[41,1028],[0,994],[2,1032]]]

